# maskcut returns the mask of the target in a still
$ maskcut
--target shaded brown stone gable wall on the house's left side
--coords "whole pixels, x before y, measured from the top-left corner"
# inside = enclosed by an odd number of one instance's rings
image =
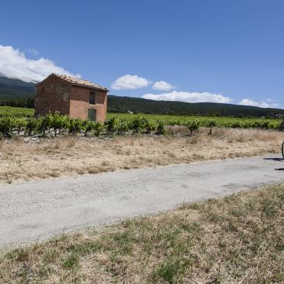
[[[69,114],[71,84],[56,76],[49,76],[36,87],[35,116],[48,112]]]

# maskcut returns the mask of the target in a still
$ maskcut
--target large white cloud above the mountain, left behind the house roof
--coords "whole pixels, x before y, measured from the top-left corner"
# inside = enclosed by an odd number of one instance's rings
[[[41,57],[37,60],[28,59],[25,53],[12,46],[0,45],[0,73],[7,77],[20,78],[26,82],[42,81],[51,73],[66,74],[80,78],[79,74],[72,74],[49,59]]]

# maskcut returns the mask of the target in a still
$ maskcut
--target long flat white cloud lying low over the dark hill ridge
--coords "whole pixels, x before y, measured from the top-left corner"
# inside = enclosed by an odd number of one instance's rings
[[[150,100],[170,100],[180,101],[186,103],[231,103],[233,100],[229,97],[222,96],[220,94],[211,94],[208,92],[188,92],[188,91],[172,91],[165,94],[145,94],[142,98],[148,98]]]

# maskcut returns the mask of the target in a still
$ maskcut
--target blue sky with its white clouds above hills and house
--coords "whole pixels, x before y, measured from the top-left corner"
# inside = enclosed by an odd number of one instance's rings
[[[283,15],[280,0],[5,1],[0,72],[79,74],[121,96],[284,107]]]

